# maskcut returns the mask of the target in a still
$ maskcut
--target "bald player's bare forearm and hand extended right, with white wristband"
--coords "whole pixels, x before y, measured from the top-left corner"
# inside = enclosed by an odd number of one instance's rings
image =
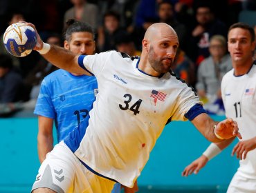
[[[220,142],[224,139],[230,139],[237,136],[241,139],[238,125],[236,121],[228,118],[221,122],[213,121],[206,113],[201,113],[191,121],[194,126],[205,136],[206,139],[212,142]]]

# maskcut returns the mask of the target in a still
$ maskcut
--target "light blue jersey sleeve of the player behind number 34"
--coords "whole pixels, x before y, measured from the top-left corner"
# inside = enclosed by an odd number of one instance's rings
[[[40,92],[35,105],[34,114],[55,119],[55,108],[51,99],[51,83],[44,79],[41,84]]]

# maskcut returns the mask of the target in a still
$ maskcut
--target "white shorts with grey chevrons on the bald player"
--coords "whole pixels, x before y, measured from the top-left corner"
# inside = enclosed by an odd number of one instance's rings
[[[32,190],[47,187],[58,193],[111,192],[115,182],[93,174],[61,141],[46,155]]]

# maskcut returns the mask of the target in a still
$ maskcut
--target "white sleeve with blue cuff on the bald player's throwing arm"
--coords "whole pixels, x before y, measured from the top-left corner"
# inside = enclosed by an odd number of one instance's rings
[[[97,77],[104,69],[111,54],[113,54],[113,51],[101,52],[100,54],[94,55],[80,55],[78,64],[91,75]]]

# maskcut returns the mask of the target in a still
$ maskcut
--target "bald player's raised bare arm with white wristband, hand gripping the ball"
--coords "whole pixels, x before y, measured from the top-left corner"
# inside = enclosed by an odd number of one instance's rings
[[[35,29],[37,33],[37,44],[35,45],[34,50],[37,50],[40,54],[42,54],[42,56],[47,61],[57,66],[58,68],[67,70],[68,72],[86,74],[91,76],[89,72],[86,72],[86,70],[82,69],[80,65],[78,65],[77,59],[79,57],[79,54],[74,54],[70,50],[66,50],[57,45],[49,45],[47,43],[44,43],[39,37],[39,34],[33,23],[26,23],[26,25],[31,26]]]

